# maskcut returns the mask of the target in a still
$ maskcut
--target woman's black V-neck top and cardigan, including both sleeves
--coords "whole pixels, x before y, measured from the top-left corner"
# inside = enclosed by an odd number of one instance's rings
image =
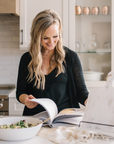
[[[27,81],[28,64],[31,61],[29,52],[22,55],[18,71],[16,98],[19,101],[21,94],[32,94],[36,98],[50,98],[58,107],[58,111],[64,108],[79,108],[79,102],[84,105],[88,97],[88,91],[84,82],[82,67],[78,55],[64,47],[65,49],[65,73],[57,77],[55,68],[51,73],[45,76],[45,89],[37,89],[32,82]],[[44,111],[43,107],[37,105],[33,109],[25,106],[23,115],[34,115]]]

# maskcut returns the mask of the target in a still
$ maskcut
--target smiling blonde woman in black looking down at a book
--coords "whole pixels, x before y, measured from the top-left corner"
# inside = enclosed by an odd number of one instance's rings
[[[33,20],[29,51],[20,60],[17,100],[25,104],[23,115],[44,109],[30,99],[50,98],[58,107],[85,105],[88,91],[77,54],[62,45],[61,20],[53,10],[40,12]]]

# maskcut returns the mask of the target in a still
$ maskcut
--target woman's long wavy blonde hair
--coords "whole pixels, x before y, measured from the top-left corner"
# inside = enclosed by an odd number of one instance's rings
[[[42,67],[42,46],[41,37],[44,35],[45,31],[52,24],[59,24],[59,40],[55,47],[55,59],[57,74],[58,76],[61,72],[64,72],[63,61],[65,59],[65,51],[62,45],[62,24],[61,19],[58,14],[53,10],[44,10],[36,15],[33,19],[31,27],[31,42],[29,47],[29,53],[31,55],[31,61],[28,65],[29,75],[28,81],[31,82],[35,79],[34,86],[38,89],[45,89],[45,76],[41,70]],[[50,65],[53,64],[53,59],[50,61]]]

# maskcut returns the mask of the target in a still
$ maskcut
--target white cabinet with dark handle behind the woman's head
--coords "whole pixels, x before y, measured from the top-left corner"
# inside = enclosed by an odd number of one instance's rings
[[[68,0],[20,0],[20,49],[28,48],[32,20],[45,9],[53,9],[61,17],[63,39],[68,46]]]

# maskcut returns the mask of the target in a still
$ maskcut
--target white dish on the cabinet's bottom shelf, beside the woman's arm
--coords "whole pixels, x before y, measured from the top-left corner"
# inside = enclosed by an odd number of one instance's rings
[[[103,75],[102,72],[96,71],[83,71],[83,74],[86,81],[99,81],[101,80],[101,75]]]

